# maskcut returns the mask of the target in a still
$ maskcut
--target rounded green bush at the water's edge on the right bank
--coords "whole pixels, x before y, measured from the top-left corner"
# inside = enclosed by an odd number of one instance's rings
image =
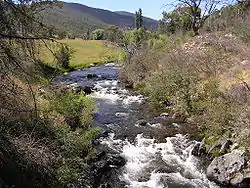
[[[176,69],[156,73],[149,79],[145,88],[151,103],[164,107],[171,101],[175,112],[188,115],[193,112],[193,98],[197,93],[198,76]]]

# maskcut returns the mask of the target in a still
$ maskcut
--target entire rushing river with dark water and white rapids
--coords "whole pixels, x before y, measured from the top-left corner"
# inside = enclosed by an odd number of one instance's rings
[[[184,136],[193,126],[155,117],[146,99],[120,86],[116,64],[71,72],[60,78],[69,87],[91,87],[97,99],[95,126],[109,130],[100,138],[126,159],[117,176],[128,188],[216,188],[206,178],[201,161],[192,156],[196,141]],[[87,78],[87,75],[97,75]],[[138,120],[147,121],[144,126]],[[111,187],[118,187],[113,182]]]

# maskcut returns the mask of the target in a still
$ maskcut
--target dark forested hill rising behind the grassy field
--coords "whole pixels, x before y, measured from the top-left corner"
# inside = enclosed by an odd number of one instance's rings
[[[43,21],[57,29],[72,34],[80,34],[88,29],[104,28],[105,25],[116,25],[122,28],[134,27],[134,14],[121,14],[77,3],[63,3],[61,7],[48,8],[42,12]],[[144,18],[147,28],[156,28],[157,21]]]

